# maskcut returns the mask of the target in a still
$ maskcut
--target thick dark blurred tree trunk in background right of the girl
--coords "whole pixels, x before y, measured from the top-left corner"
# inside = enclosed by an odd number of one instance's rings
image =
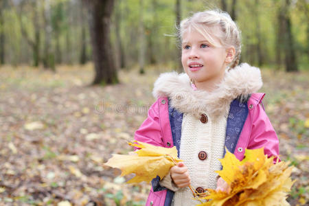
[[[298,71],[295,43],[292,33],[292,23],[290,21],[290,0],[283,1],[279,8],[279,22],[282,21],[283,36],[284,36],[284,53],[286,71]],[[281,34],[281,35],[282,35]],[[278,36],[279,37],[279,36]]]

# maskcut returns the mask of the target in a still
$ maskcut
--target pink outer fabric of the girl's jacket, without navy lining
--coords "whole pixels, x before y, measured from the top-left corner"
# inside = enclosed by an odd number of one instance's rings
[[[249,114],[238,139],[234,155],[244,158],[244,149],[264,147],[264,153],[271,157],[279,155],[279,141],[269,121],[262,99],[264,93],[253,93],[247,102]],[[168,114],[168,98],[159,98],[148,111],[148,117],[135,133],[135,139],[155,146],[171,148],[174,146]],[[163,206],[167,190],[150,190],[146,205]]]

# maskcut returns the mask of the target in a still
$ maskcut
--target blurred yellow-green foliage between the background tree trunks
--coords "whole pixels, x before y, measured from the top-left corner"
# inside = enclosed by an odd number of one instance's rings
[[[35,3],[34,3],[35,2]],[[258,3],[256,3],[258,2]],[[278,17],[277,12],[284,1],[237,1],[236,22],[242,30],[242,61],[258,63],[256,45],[257,34],[261,34],[262,56],[267,65],[275,63]],[[40,34],[38,40],[41,56],[44,51],[45,30],[52,30],[51,51],[58,62],[56,45],[60,44],[62,60],[65,63],[77,63],[81,53],[82,27],[89,28],[87,16],[82,15],[81,1],[55,0],[50,1],[50,25],[46,25],[45,1],[24,1],[22,4],[10,3],[3,10],[3,25],[0,32],[5,34],[5,62],[8,64],[30,64],[32,62],[32,46],[28,42],[36,40],[35,31]],[[227,1],[231,8],[231,1]],[[115,60],[119,58],[116,47],[122,43],[127,64],[134,66],[139,54],[139,1],[119,0],[115,3],[113,12],[111,40],[115,53]],[[191,0],[181,1],[181,19],[190,16],[192,12],[220,8],[220,1]],[[85,7],[85,5],[83,5]],[[22,8],[22,10],[21,10]],[[301,69],[308,69],[308,3],[305,0],[295,1],[290,5],[289,12],[295,36],[295,50],[297,61]],[[86,13],[86,12],[84,12]],[[156,62],[168,63],[179,61],[176,45],[176,14],[175,1],[152,0],[143,1],[144,27],[146,35],[146,65],[151,59]],[[117,22],[115,14],[119,14]],[[21,19],[21,22],[19,21]],[[260,24],[260,30],[258,29]],[[120,39],[115,34],[115,25],[119,24]],[[21,25],[25,28],[28,37],[21,34]],[[29,38],[27,40],[27,38]],[[91,54],[90,34],[87,30],[87,56]],[[152,52],[152,56],[150,56]],[[50,58],[50,57],[48,57]],[[51,60],[54,62],[55,60]],[[52,66],[53,68],[53,66]]]

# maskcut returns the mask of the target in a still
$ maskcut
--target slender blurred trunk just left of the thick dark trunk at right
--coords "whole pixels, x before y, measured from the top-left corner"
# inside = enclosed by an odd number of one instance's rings
[[[260,27],[260,14],[259,14],[259,0],[255,0],[255,6],[253,8],[254,13],[255,13],[255,35],[256,38],[258,39],[258,42],[256,43],[256,52],[258,54],[258,65],[259,67],[261,67],[264,64],[264,56],[262,54],[262,49],[261,49],[261,45],[262,45],[262,37],[261,37],[261,27]],[[266,49],[263,50],[264,52],[266,52]]]

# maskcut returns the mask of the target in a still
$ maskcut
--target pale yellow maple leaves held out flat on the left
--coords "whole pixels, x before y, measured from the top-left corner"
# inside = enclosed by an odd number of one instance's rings
[[[152,146],[141,141],[134,141],[137,144],[128,143],[130,146],[140,148],[133,155],[113,155],[104,165],[122,170],[122,176],[135,173],[136,176],[128,183],[150,182],[160,176],[161,179],[168,174],[170,168],[182,161],[177,158],[177,149]]]

